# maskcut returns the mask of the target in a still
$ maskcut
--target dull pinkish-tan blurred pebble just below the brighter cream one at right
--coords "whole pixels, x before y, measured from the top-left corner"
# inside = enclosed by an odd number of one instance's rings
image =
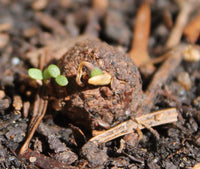
[[[192,82],[187,72],[179,73],[177,81],[179,82],[180,85],[182,85],[185,88],[186,91],[191,89]]]

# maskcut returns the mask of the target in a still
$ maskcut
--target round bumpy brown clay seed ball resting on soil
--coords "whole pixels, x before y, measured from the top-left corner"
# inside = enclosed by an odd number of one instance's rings
[[[81,61],[87,61],[112,76],[110,85],[92,86],[83,76],[84,87],[76,84]],[[63,112],[80,126],[109,128],[134,115],[142,99],[137,67],[127,54],[98,39],[76,43],[58,62],[69,84]],[[87,68],[83,70],[88,73]]]

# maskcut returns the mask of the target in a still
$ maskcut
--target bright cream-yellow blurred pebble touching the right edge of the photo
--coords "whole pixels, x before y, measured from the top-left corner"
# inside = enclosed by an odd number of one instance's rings
[[[188,45],[183,51],[183,59],[188,62],[200,61],[200,52],[194,46]]]

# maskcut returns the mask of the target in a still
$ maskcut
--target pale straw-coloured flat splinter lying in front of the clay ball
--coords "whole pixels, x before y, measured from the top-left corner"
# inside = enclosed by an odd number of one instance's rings
[[[154,113],[146,114],[136,118],[136,121],[142,121],[150,127],[158,126],[167,123],[173,123],[177,121],[177,110],[175,108],[160,110]],[[128,120],[123,122],[104,133],[97,135],[90,139],[96,144],[101,144],[113,140],[117,137],[132,133],[137,127],[140,129],[145,128],[142,124],[137,123],[134,120]]]

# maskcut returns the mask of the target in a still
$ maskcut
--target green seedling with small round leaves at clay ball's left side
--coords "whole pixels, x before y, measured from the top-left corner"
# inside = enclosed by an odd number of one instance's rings
[[[35,80],[44,80],[46,83],[50,78],[54,78],[56,83],[60,86],[66,86],[68,80],[65,76],[60,75],[60,69],[58,66],[51,64],[43,72],[37,68],[30,68],[28,75]]]

